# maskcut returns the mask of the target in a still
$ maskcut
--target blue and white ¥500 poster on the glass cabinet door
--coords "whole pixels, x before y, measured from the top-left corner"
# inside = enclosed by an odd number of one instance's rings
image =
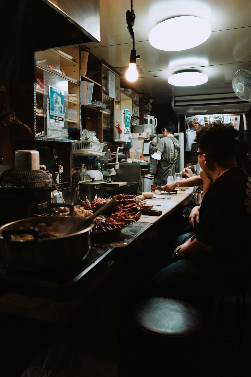
[[[64,90],[49,86],[50,93],[50,126],[64,127]]]

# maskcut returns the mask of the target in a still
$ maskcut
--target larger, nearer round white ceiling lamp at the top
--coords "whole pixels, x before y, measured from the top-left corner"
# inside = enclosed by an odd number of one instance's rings
[[[154,26],[149,34],[149,42],[159,50],[182,51],[199,46],[210,34],[210,23],[204,18],[180,16]]]

